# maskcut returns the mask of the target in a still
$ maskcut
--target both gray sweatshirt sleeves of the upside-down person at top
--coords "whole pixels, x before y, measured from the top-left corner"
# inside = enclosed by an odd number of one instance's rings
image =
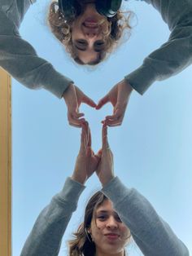
[[[137,92],[143,94],[153,82],[171,77],[192,63],[192,1],[141,1],[155,7],[171,30],[168,42],[125,77]],[[24,86],[45,88],[61,98],[72,80],[38,57],[33,46],[20,37],[20,24],[33,2],[36,0],[1,0],[0,66]]]

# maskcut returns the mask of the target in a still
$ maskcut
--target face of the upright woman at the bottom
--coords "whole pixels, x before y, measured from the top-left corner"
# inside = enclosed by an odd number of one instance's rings
[[[124,255],[124,246],[129,240],[129,228],[121,222],[111,201],[105,200],[95,210],[89,232],[96,246],[96,256]]]

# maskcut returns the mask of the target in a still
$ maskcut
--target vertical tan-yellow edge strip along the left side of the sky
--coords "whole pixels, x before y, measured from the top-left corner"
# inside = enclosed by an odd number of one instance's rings
[[[0,68],[0,255],[11,256],[11,77]]]

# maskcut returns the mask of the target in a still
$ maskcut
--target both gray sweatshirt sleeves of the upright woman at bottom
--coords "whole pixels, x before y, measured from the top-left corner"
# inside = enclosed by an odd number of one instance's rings
[[[72,212],[85,186],[68,178],[63,190],[53,197],[38,216],[20,256],[56,256]],[[134,188],[126,188],[117,177],[102,192],[112,201],[121,220],[129,227],[134,241],[146,256],[189,256],[149,201]],[[93,255],[90,255],[93,256]]]

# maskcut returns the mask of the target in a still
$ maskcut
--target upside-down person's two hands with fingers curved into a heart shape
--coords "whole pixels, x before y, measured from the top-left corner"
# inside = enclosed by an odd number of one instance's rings
[[[77,86],[71,84],[64,92],[63,98],[68,107],[68,122],[71,126],[81,127],[85,122],[84,113],[79,113],[81,103],[88,104],[92,108],[100,109],[104,104],[111,102],[113,114],[105,117],[102,122],[107,126],[120,126],[129,102],[129,96],[133,88],[125,79],[117,83],[108,93],[95,104]]]

